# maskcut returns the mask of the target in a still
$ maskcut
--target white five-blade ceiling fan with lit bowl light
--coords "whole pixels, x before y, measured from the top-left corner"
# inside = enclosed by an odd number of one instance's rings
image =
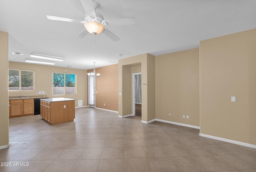
[[[48,16],[48,15],[46,15],[46,18],[50,20],[58,20],[58,21],[64,21],[64,22],[77,22],[77,23],[84,24],[85,28],[76,36],[76,38],[84,38],[84,36],[86,36],[86,34],[88,33],[93,34],[95,36],[96,34],[100,34],[102,32],[113,41],[118,41],[120,40],[120,38],[118,38],[115,34],[110,32],[110,30],[108,30],[105,26],[135,24],[135,20],[133,17],[104,20],[104,17],[102,16],[102,14],[95,11],[100,6],[98,2],[95,2],[93,0],[80,0],[80,1],[82,3],[82,6],[84,7],[84,10],[86,11],[84,20],[75,20],[70,18]]]

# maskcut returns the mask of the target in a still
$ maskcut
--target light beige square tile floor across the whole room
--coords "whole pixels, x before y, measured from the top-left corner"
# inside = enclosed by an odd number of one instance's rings
[[[12,118],[9,129],[0,162],[11,166],[0,172],[256,172],[256,149],[94,108],[78,108],[74,122],[54,126],[40,115]]]

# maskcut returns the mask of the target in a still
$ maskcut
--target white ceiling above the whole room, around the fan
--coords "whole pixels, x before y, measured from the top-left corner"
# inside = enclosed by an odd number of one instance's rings
[[[46,15],[84,20],[79,0],[0,0],[0,30],[9,33],[9,61],[30,53],[64,57],[55,66],[91,69],[118,59],[166,54],[199,47],[200,40],[256,27],[256,0],[96,0],[104,19],[134,17],[135,25],[107,26],[104,34],[76,39],[80,23],[48,20]],[[23,56],[12,52],[24,53]],[[122,54],[121,57],[118,54]],[[112,62],[108,62],[112,61]]]

